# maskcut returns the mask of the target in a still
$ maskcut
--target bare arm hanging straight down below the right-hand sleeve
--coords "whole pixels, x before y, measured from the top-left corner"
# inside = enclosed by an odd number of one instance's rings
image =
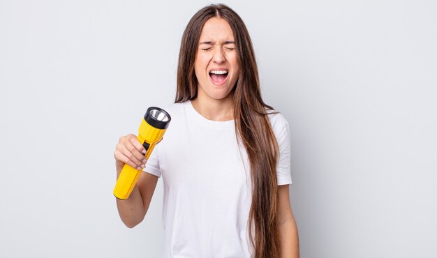
[[[282,258],[299,258],[299,236],[290,206],[288,185],[278,186],[278,229]]]

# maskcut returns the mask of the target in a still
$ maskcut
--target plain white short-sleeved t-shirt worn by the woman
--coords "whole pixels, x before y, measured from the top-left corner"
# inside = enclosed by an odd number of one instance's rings
[[[211,121],[191,101],[166,107],[172,120],[145,171],[163,177],[164,255],[251,257],[251,176],[234,121]],[[278,185],[291,183],[288,123],[269,114],[279,144]]]

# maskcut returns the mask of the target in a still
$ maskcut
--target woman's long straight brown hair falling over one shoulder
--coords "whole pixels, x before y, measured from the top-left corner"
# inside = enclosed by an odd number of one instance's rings
[[[255,258],[279,257],[276,225],[278,187],[276,162],[279,148],[267,118],[272,107],[262,101],[255,54],[249,32],[234,10],[223,4],[206,6],[195,13],[182,36],[177,68],[176,103],[197,97],[198,81],[194,73],[195,55],[202,27],[209,18],[223,18],[229,23],[237,45],[240,72],[233,89],[237,139],[249,157],[252,179],[252,204],[249,212],[249,236]],[[253,228],[252,228],[253,225]]]

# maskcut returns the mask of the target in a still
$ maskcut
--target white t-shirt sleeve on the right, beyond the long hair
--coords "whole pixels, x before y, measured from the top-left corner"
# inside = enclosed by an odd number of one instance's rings
[[[279,160],[276,165],[277,183],[278,185],[288,185],[292,183],[290,166],[290,128],[288,122],[285,122],[282,130],[278,135],[276,135],[276,140],[278,141],[279,146]]]

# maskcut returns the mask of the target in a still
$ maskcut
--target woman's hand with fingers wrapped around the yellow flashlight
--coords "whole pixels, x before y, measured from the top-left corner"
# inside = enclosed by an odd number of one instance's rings
[[[114,151],[117,172],[120,172],[125,164],[136,169],[143,169],[147,161],[145,153],[145,148],[135,135],[129,134],[120,137]]]

